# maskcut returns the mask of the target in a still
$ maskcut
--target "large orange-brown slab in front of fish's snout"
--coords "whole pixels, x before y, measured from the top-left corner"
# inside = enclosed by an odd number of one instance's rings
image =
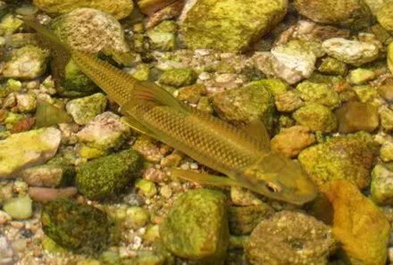
[[[328,183],[321,192],[332,209],[320,211],[333,225],[345,264],[385,265],[390,224],[384,213],[348,181]]]

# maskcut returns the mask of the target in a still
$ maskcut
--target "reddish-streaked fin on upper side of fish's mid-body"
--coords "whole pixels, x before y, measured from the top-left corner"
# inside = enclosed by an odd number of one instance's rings
[[[135,85],[133,90],[133,99],[129,104],[140,101],[152,102],[160,106],[170,106],[181,111],[187,110],[187,108],[180,101],[174,98],[167,90],[153,82],[144,81]]]

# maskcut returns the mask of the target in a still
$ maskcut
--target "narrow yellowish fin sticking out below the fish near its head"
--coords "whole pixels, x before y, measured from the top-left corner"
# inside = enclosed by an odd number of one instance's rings
[[[204,185],[215,185],[215,186],[241,186],[235,180],[219,177],[210,174],[198,173],[189,170],[171,169],[172,176],[185,179],[192,182],[197,182]]]

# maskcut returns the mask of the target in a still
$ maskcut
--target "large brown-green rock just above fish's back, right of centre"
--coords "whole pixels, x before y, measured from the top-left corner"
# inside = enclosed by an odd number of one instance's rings
[[[239,89],[230,89],[213,96],[218,115],[236,125],[263,120],[266,128],[273,127],[274,96],[264,82],[254,81]]]

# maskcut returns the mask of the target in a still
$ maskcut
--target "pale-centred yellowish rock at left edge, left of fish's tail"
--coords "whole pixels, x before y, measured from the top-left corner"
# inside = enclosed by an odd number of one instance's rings
[[[35,79],[46,70],[49,53],[36,46],[25,46],[14,52],[5,62],[2,72],[5,78]]]

